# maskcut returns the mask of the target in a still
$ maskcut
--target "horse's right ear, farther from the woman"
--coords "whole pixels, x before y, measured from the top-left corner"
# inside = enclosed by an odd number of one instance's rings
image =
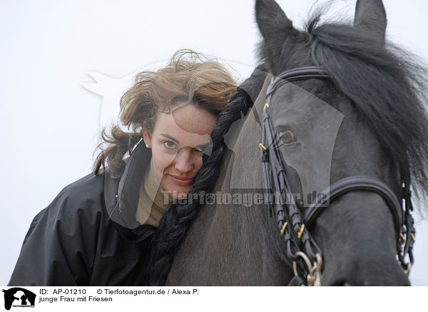
[[[357,0],[354,26],[368,29],[377,39],[384,41],[387,14],[382,0]]]

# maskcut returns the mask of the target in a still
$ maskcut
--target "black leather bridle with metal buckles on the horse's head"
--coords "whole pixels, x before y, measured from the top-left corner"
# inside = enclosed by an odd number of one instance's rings
[[[350,176],[342,178],[323,192],[325,196],[316,199],[310,207],[302,211],[293,201],[290,185],[285,171],[285,161],[279,150],[275,129],[268,114],[268,107],[275,91],[290,81],[305,79],[332,79],[325,69],[319,66],[300,67],[282,72],[272,79],[267,87],[266,102],[263,108],[263,137],[259,144],[263,162],[265,186],[272,193],[270,211],[275,213],[277,226],[286,243],[287,262],[292,266],[295,276],[290,286],[320,286],[322,271],[322,252],[310,235],[307,227],[314,223],[327,204],[345,193],[352,191],[372,191],[378,193],[387,203],[394,217],[397,233],[397,258],[404,272],[409,274],[413,263],[412,247],[415,240],[414,221],[411,215],[412,202],[409,191],[409,174],[402,173],[402,194],[400,199],[382,181],[369,176]],[[409,261],[406,261],[409,255]]]

